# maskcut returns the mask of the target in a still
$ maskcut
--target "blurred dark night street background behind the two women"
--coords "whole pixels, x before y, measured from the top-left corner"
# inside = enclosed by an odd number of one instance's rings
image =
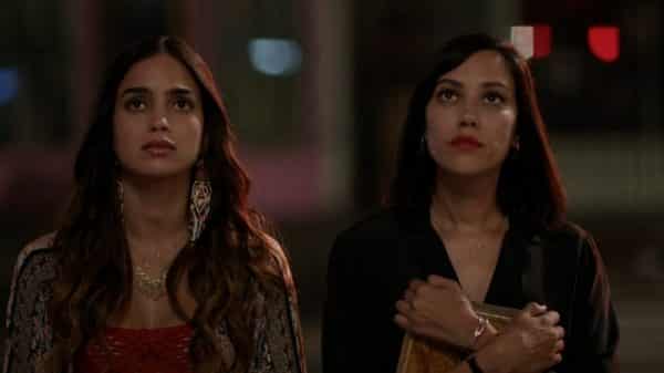
[[[18,250],[66,206],[104,66],[128,42],[177,34],[212,68],[252,201],[291,252],[309,367],[320,372],[330,247],[378,207],[428,58],[459,33],[507,39],[512,25],[536,25],[538,94],[571,218],[609,269],[622,371],[660,373],[661,14],[656,0],[0,0],[2,307]]]

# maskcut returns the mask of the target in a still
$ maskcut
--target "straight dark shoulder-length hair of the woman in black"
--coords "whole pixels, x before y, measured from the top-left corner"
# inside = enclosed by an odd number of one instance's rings
[[[457,37],[437,54],[434,69],[417,84],[401,137],[396,175],[387,204],[400,210],[428,208],[435,187],[436,164],[422,148],[428,104],[440,75],[479,51],[496,51],[507,62],[517,96],[516,134],[520,149],[502,164],[497,199],[510,219],[532,229],[546,229],[564,218],[566,195],[540,114],[528,62],[513,46],[486,34]]]

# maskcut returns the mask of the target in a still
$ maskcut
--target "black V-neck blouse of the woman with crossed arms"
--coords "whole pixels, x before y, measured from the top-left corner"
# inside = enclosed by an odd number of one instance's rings
[[[383,210],[339,235],[330,253],[323,372],[396,372],[403,331],[395,302],[412,279],[458,281],[428,211]],[[592,238],[568,224],[528,234],[511,222],[485,302],[537,301],[561,314],[562,363],[551,372],[618,372],[619,332],[609,282]]]

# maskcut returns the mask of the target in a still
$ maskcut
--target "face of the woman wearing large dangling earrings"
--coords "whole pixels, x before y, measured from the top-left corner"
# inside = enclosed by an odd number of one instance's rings
[[[115,96],[115,154],[125,175],[188,175],[198,159],[204,127],[198,84],[173,56],[135,63]]]

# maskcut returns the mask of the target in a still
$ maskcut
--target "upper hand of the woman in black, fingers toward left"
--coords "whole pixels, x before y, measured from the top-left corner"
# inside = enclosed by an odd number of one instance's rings
[[[394,321],[407,332],[473,348],[479,318],[457,282],[435,274],[427,282],[413,280],[396,309]]]

